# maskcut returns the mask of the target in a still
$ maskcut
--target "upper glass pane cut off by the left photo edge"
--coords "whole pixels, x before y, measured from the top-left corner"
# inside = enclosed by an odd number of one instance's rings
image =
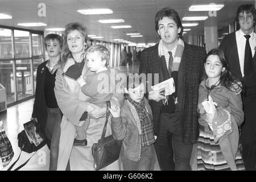
[[[0,28],[0,59],[13,57],[11,30]]]

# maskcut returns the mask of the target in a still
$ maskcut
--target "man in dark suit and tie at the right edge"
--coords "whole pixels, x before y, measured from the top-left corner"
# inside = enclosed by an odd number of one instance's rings
[[[245,122],[241,127],[242,156],[246,170],[255,170],[256,164],[256,34],[254,5],[241,5],[238,7],[236,21],[240,30],[233,32],[222,40],[222,49],[228,58],[232,75],[243,81],[243,110]],[[250,51],[246,52],[246,36],[249,38]],[[250,55],[251,52],[251,55]],[[250,57],[250,63],[246,64],[246,58]],[[247,66],[246,66],[247,65]]]

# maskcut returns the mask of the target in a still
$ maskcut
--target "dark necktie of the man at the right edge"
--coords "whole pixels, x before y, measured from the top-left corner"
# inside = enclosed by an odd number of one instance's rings
[[[244,35],[246,38],[245,44],[245,61],[243,62],[243,74],[245,76],[250,76],[254,73],[253,68],[253,55],[251,54],[251,47],[249,43],[250,35]]]

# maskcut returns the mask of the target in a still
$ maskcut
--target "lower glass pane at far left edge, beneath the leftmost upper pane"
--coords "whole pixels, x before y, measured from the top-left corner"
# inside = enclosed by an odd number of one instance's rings
[[[13,61],[0,61],[0,83],[6,88],[6,104],[15,101],[13,68]]]

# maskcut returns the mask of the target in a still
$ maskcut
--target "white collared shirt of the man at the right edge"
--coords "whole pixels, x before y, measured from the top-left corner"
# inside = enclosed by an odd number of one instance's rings
[[[245,34],[242,32],[241,29],[236,31],[237,51],[238,51],[238,57],[239,57],[242,76],[244,76],[243,67],[244,67],[244,61],[245,61],[245,44],[246,44],[246,38],[244,35]],[[251,55],[254,56],[255,46],[256,46],[256,34],[254,32],[251,32],[250,36],[251,37],[249,39],[249,43],[251,47]]]

